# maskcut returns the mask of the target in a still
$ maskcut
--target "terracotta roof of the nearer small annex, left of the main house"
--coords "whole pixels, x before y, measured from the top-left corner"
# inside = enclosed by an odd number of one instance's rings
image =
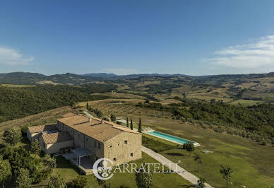
[[[66,131],[56,132],[56,133],[51,133],[51,134],[42,134],[42,139],[44,140],[44,143],[46,143],[46,144],[73,140],[71,135]]]

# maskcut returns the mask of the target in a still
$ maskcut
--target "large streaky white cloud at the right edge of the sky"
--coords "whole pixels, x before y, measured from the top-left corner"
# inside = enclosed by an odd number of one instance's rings
[[[203,61],[237,69],[273,69],[274,35],[261,37],[250,44],[231,46],[216,51],[214,57],[203,59]]]

